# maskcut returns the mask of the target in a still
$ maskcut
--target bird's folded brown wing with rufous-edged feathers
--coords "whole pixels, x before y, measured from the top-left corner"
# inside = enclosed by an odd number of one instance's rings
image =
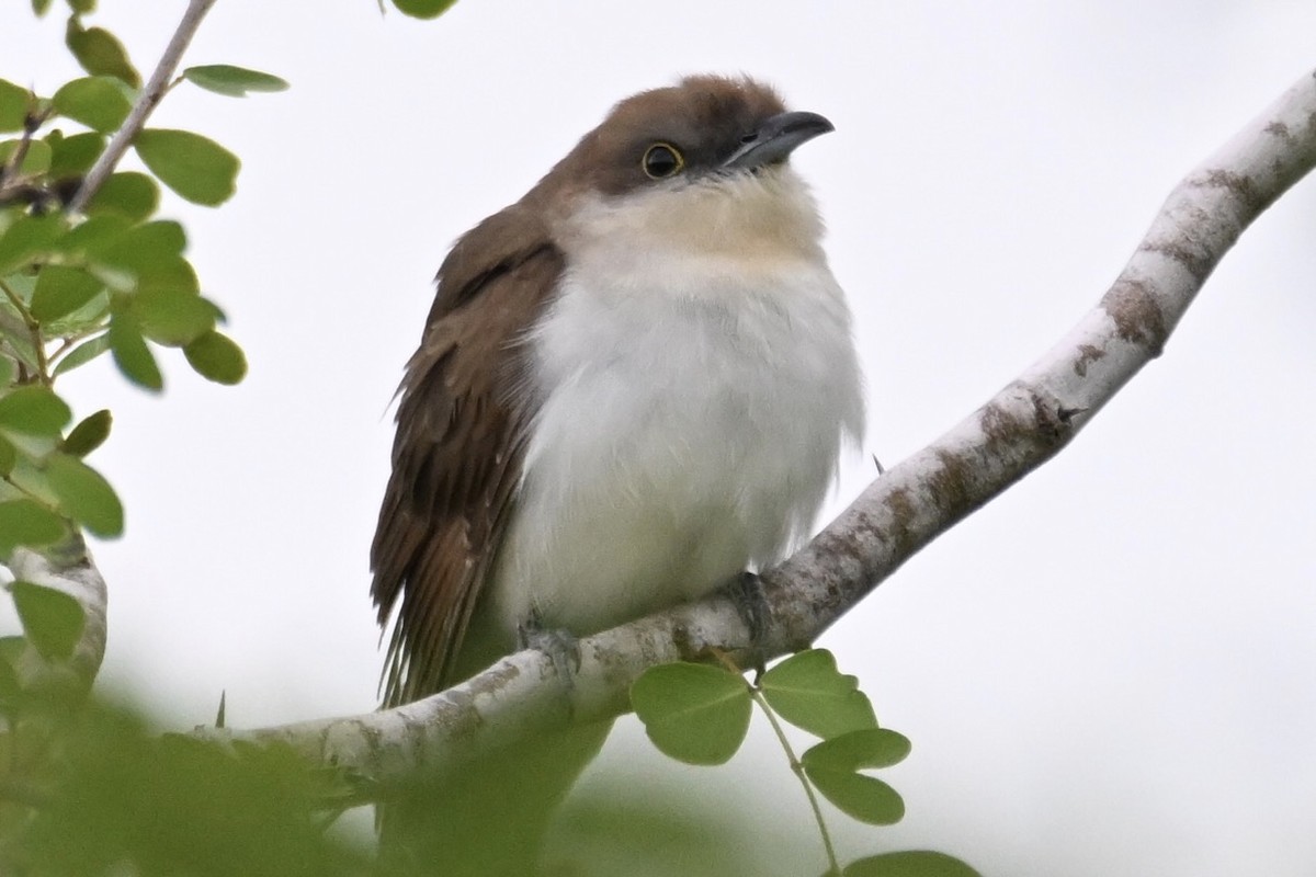
[[[459,681],[454,657],[507,530],[534,413],[517,346],[561,273],[561,252],[517,206],[471,230],[440,268],[371,547],[379,622],[393,618],[386,706]]]

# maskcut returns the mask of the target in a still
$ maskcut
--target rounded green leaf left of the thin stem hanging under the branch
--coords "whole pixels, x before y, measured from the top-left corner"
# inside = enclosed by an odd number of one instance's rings
[[[719,667],[651,667],[630,686],[630,703],[654,746],[687,764],[722,764],[749,730],[749,688]]]

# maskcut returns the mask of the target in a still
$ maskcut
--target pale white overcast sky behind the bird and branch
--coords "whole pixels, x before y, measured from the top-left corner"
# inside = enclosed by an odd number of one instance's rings
[[[145,74],[183,3],[101,7]],[[50,93],[71,75],[63,21],[26,8],[0,11],[0,76]],[[1179,178],[1316,66],[1312,34],[1316,8],[1279,0],[462,0],[428,24],[374,0],[220,0],[187,63],[293,89],[179,88],[155,124],[243,159],[229,205],[166,213],[251,375],[224,389],[167,354],[162,400],[108,362],[63,388],[116,415],[92,458],[128,505],[126,536],[96,548],[104,685],[179,727],[221,689],[236,726],[374,705],[367,548],[430,279],[617,99],[745,71],[832,118],[795,162],[857,314],[869,450],[894,464],[1098,300]],[[1069,450],[822,639],[915,744],[887,774],[905,822],[846,849],[1012,876],[1312,873],[1313,241],[1307,180]],[[857,463],[841,501],[867,477]],[[691,781],[801,823],[765,736]],[[684,776],[633,738],[604,763]],[[821,869],[799,855],[783,874]]]

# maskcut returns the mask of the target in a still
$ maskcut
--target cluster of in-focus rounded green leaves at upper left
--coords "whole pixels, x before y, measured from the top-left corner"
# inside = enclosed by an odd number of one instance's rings
[[[34,0],[33,11],[51,5]],[[163,348],[220,384],[246,373],[187,258],[187,233],[158,216],[162,187],[222,204],[240,162],[192,131],[129,129],[146,171],[114,171],[82,192],[134,105],[161,96],[143,95],[117,37],[84,22],[95,0],[67,5],[64,43],[87,75],[49,96],[0,79],[0,563],[18,547],[67,544],[79,527],[99,536],[124,527],[118,497],[84,460],[108,437],[111,413],[66,433],[61,376],[108,354],[130,383],[159,392]],[[287,87],[229,64],[190,67],[180,82],[236,96]],[[74,212],[79,195],[86,206]]]

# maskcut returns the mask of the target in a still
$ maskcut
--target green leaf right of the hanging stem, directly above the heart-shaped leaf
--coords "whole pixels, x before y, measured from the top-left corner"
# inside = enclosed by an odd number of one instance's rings
[[[824,739],[878,727],[873,703],[825,648],[811,648],[763,673],[763,697],[783,719]]]

